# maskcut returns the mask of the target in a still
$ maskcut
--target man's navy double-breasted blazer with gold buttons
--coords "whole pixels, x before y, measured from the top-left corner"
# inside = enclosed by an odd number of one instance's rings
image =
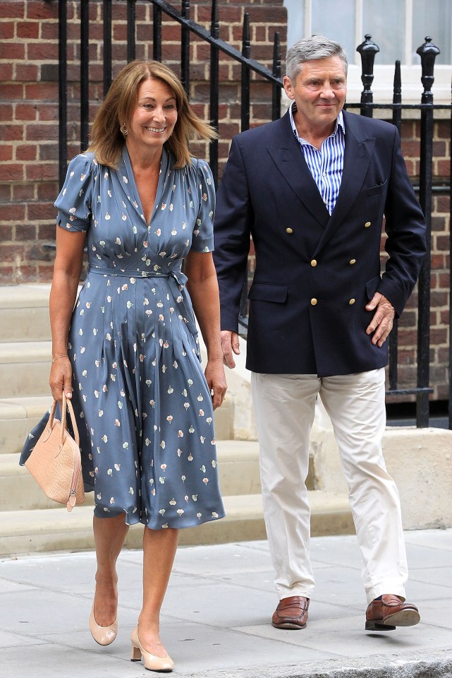
[[[289,114],[238,134],[216,199],[221,329],[238,331],[250,235],[247,367],[269,374],[353,374],[384,367],[387,342],[365,330],[374,292],[399,316],[419,275],[425,223],[395,126],[344,112],[346,149],[329,215]],[[386,219],[386,261],[380,244]]]

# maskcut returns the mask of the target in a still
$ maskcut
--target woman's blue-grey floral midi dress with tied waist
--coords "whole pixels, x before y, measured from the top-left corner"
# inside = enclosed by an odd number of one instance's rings
[[[85,489],[99,517],[126,512],[129,525],[160,529],[224,516],[212,399],[181,271],[190,249],[213,249],[214,201],[207,163],[174,169],[166,150],[149,225],[126,147],[116,170],[92,153],[68,167],[57,222],[87,232],[89,260],[68,355]]]

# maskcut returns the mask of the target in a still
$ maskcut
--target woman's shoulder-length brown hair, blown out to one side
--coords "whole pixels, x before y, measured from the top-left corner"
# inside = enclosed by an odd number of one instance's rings
[[[149,78],[164,81],[176,96],[178,119],[173,133],[165,143],[176,158],[176,169],[190,165],[188,144],[192,139],[212,141],[216,138],[214,128],[203,122],[190,108],[188,97],[176,73],[159,61],[130,61],[114,78],[92,124],[92,141],[88,150],[94,153],[100,165],[118,167],[123,145],[126,143],[121,126],[130,125],[138,102],[140,85]]]

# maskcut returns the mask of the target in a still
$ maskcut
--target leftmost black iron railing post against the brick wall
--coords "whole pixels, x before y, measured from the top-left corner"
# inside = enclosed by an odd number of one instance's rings
[[[66,54],[68,8],[66,2],[67,0],[59,0],[58,3],[58,177],[60,188],[64,184],[68,168],[68,59]]]

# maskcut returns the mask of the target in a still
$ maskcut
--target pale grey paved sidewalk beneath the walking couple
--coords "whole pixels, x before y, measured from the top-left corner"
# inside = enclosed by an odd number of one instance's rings
[[[421,624],[365,632],[365,595],[356,538],[316,537],[317,579],[303,631],[269,623],[276,606],[267,542],[184,547],[166,595],[162,638],[174,675],[197,678],[452,677],[452,530],[405,533],[408,600]],[[118,564],[119,632],[94,643],[92,552],[0,561],[0,678],[138,678],[130,631],[141,596],[142,556]]]

